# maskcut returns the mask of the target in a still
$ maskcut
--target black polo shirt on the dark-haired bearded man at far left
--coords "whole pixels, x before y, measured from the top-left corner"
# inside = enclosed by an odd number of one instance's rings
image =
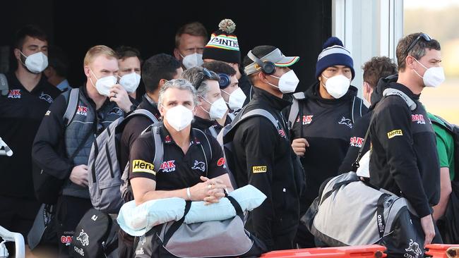
[[[61,91],[42,76],[31,92],[6,74],[9,92],[0,96],[0,137],[13,156],[0,156],[0,195],[35,198],[32,183],[32,142],[44,113]],[[52,132],[49,132],[52,133]]]

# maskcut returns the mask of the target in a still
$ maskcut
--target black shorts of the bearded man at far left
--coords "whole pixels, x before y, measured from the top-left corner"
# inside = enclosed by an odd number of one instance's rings
[[[20,233],[27,244],[27,234],[32,228],[38,209],[40,203],[36,199],[0,196],[0,226]]]

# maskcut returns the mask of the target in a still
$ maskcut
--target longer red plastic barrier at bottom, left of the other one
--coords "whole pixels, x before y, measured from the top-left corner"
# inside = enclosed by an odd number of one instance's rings
[[[339,257],[339,258],[383,258],[387,254],[386,247],[381,245],[359,245],[349,247],[325,247],[325,248],[306,248],[306,249],[292,249],[268,252],[261,255],[264,258],[274,257]]]

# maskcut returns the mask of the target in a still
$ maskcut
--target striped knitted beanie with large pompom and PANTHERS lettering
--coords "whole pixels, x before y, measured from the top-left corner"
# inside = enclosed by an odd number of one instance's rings
[[[224,19],[218,24],[219,30],[210,35],[205,45],[203,59],[214,59],[227,63],[241,63],[241,52],[236,35],[236,24],[230,19]]]

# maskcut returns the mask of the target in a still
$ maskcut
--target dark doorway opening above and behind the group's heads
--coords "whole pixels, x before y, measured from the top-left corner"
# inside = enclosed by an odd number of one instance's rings
[[[279,47],[286,55],[300,56],[293,68],[300,79],[298,90],[304,90],[315,80],[318,53],[331,35],[331,0],[10,0],[4,7],[0,46],[10,44],[19,27],[40,25],[49,33],[50,43],[68,54],[68,80],[74,86],[85,81],[83,57],[96,44],[136,47],[144,59],[161,52],[172,54],[175,32],[184,23],[200,21],[210,35],[220,20],[231,18],[237,24],[234,33],[243,56],[261,44]],[[6,53],[0,54],[5,66]],[[11,63],[9,67],[13,67]]]

